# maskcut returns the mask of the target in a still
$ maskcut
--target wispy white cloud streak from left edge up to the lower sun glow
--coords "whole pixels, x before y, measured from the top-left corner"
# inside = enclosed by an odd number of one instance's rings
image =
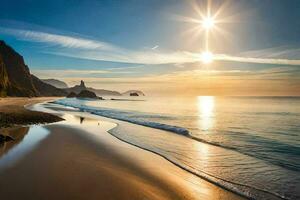
[[[137,64],[170,64],[199,61],[199,56],[190,52],[153,52],[154,49],[158,48],[158,45],[150,50],[133,51],[99,40],[77,36],[1,27],[0,33],[13,35],[20,40],[63,47],[55,50],[48,49],[44,52],[74,58]]]

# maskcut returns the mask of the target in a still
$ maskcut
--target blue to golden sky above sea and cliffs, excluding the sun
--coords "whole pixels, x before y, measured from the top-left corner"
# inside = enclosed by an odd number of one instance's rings
[[[206,79],[201,70],[209,69],[218,80],[227,80],[229,72],[231,82],[247,77],[251,81],[244,84],[253,87],[258,84],[254,79],[275,85],[281,80],[282,90],[297,95],[300,2],[224,2],[211,1],[213,13],[223,10],[218,16],[222,23],[216,24],[221,31],[212,31],[209,40],[216,55],[209,66],[199,60],[204,44],[201,27],[187,20],[200,20],[196,8],[205,12],[206,1],[2,0],[0,39],[24,56],[33,73],[69,84],[84,78],[95,86],[125,88],[126,82],[128,87],[139,84],[147,90],[150,83],[157,85],[158,78],[166,85],[191,72]]]

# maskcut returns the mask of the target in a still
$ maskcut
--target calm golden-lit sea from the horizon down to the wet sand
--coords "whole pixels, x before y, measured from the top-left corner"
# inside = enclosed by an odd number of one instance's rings
[[[114,131],[255,199],[300,199],[300,98],[139,97],[58,103],[169,132]]]

